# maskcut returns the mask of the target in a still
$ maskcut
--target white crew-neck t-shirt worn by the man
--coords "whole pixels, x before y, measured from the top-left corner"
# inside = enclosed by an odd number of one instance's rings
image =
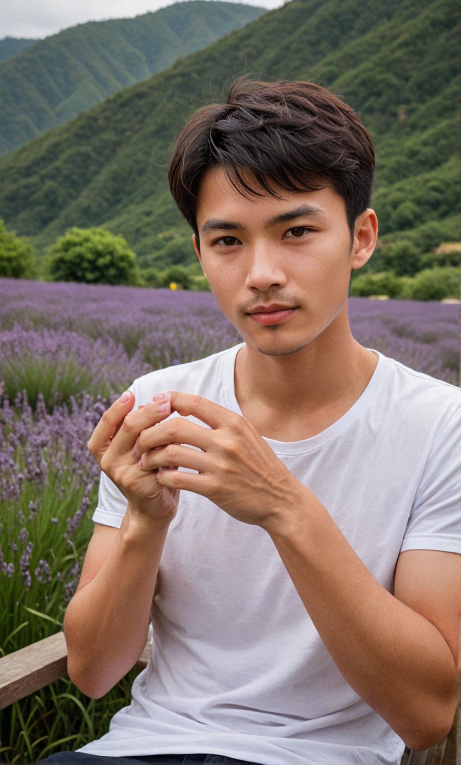
[[[183,390],[242,414],[234,388],[241,347],[141,377],[136,405]],[[330,428],[305,441],[265,440],[389,591],[400,552],[461,553],[455,386],[378,353],[362,396]],[[125,507],[102,475],[93,519],[118,527]],[[400,762],[403,742],[339,673],[263,529],[181,491],[160,577],[151,659],[131,705],[79,751],[203,752],[264,765]]]

